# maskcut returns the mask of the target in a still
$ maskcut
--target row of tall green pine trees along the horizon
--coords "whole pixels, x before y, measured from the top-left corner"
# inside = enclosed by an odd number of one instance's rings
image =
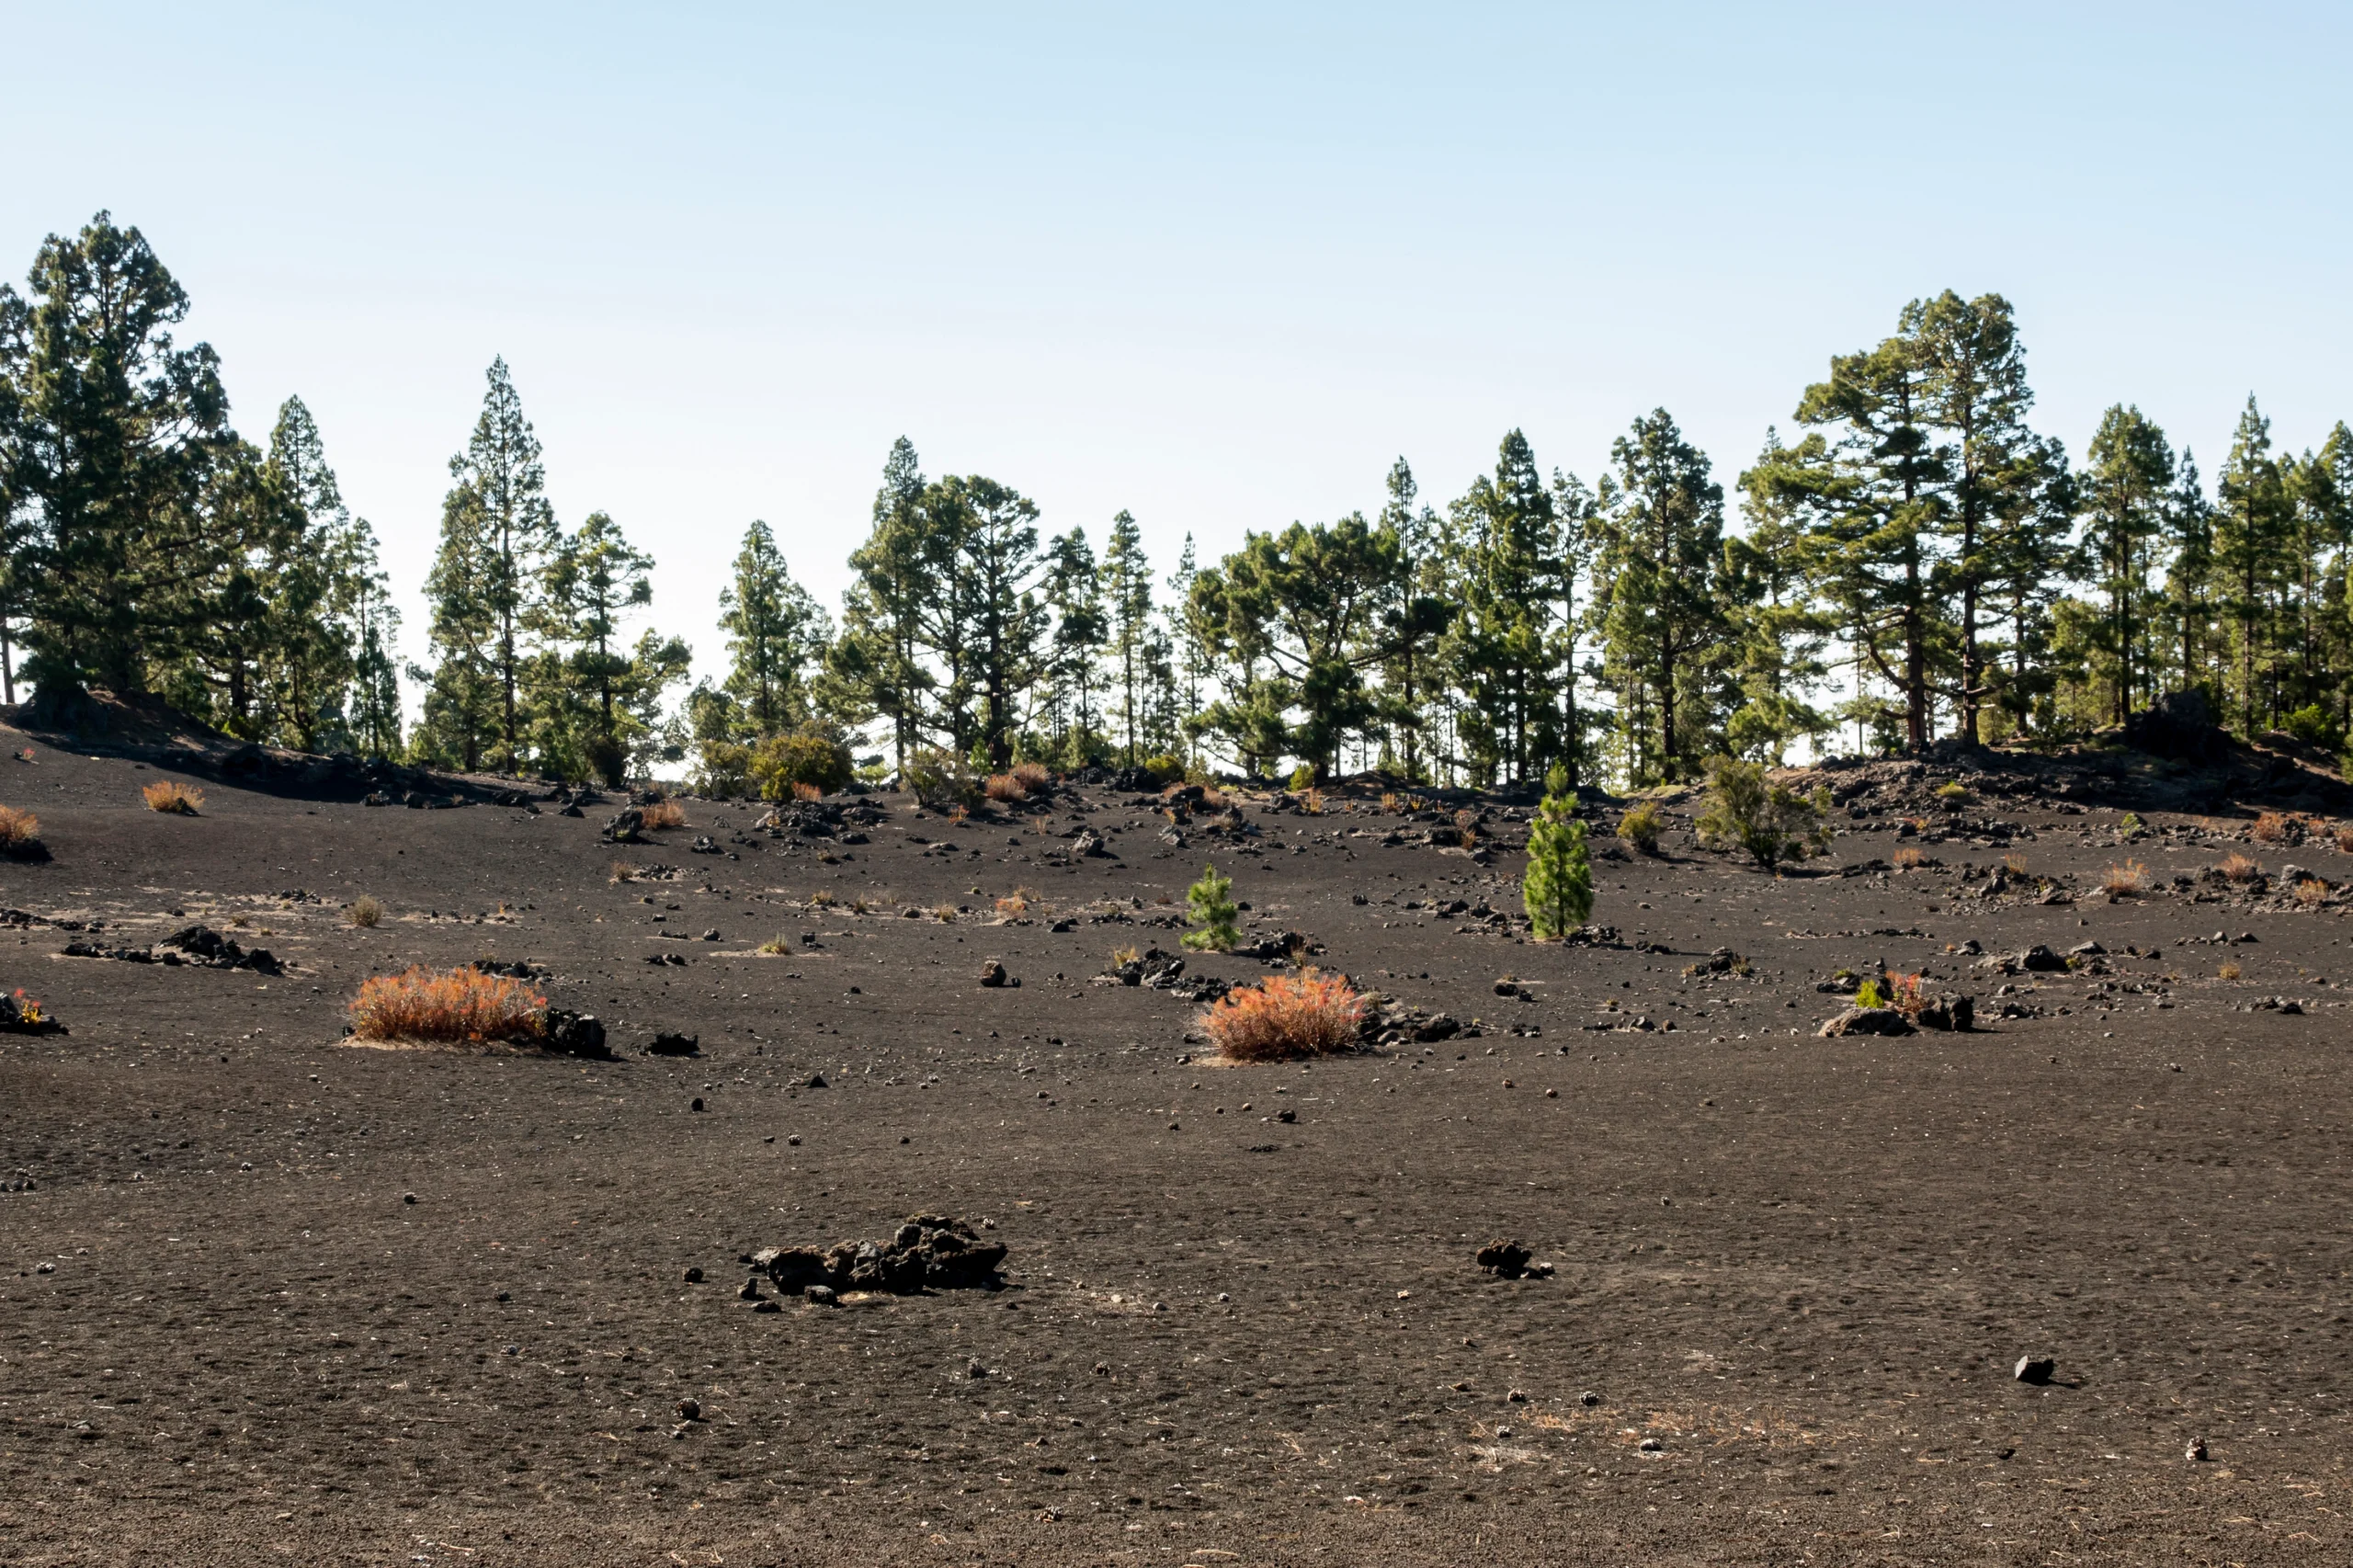
[[[1129,513],[1049,532],[1012,485],[885,459],[840,614],[751,523],[727,676],[635,626],[652,558],[565,530],[494,363],[449,461],[426,659],[395,657],[374,534],[299,400],[266,447],[136,231],[99,214],[0,287],[0,680],[155,692],[249,739],[466,770],[708,786],[762,744],[875,744],[873,775],[1217,763],[1452,784],[1689,779],[1711,756],[2066,739],[2162,692],[2341,749],[2353,718],[2353,433],[2301,454],[2247,400],[2212,492],[2111,407],[2082,461],[2031,424],[2005,299],[1946,292],[1828,360],[1729,494],[1666,410],[1586,483],[1520,431],[1431,506],[1245,532],[1167,574]],[[402,673],[421,690],[402,725]]]

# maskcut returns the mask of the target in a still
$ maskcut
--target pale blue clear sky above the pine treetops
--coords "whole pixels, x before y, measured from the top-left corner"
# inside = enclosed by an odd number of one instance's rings
[[[696,671],[828,605],[894,438],[1165,572],[1666,407],[1729,487],[1833,353],[2000,292],[2035,426],[2207,476],[2353,419],[2344,5],[21,5],[0,273],[94,212],[238,426],[301,396],[424,655],[492,356]]]

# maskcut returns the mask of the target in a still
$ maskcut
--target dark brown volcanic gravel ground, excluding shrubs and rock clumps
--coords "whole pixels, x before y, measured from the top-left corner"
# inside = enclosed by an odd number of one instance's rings
[[[1831,862],[1944,866],[1779,881],[1678,824],[1600,862],[1617,942],[1562,949],[1428,909],[1515,913],[1504,810],[1492,864],[1339,793],[1179,850],[1106,789],[871,796],[866,843],[689,800],[614,848],[609,805],[367,808],[320,770],[207,770],[162,817],[158,768],[31,744],[0,800],[54,859],[0,864],[33,916],[0,984],[71,1036],[0,1036],[0,1561],[2353,1561],[2344,911],[2200,878],[2353,857],[2235,808],[2120,845],[2007,796],[1899,841],[1849,789]],[[2108,902],[2127,857],[2160,890]],[[1200,1059],[1193,1003],[1089,979],[1176,946],[1202,859],[1252,935],[1478,1034]],[[972,913],[901,913],[941,904]],[[61,956],[193,921],[287,972]],[[2002,977],[1969,939],[2108,954]],[[1713,949],[1748,972],[1687,977]],[[365,975],[480,956],[621,1059],[341,1043]],[[1984,1029],[1814,1038],[1817,986],[1880,961]],[[986,1220],[1005,1288],[736,1300],[739,1255],[911,1212]],[[1482,1276],[1501,1236],[1553,1278]]]

